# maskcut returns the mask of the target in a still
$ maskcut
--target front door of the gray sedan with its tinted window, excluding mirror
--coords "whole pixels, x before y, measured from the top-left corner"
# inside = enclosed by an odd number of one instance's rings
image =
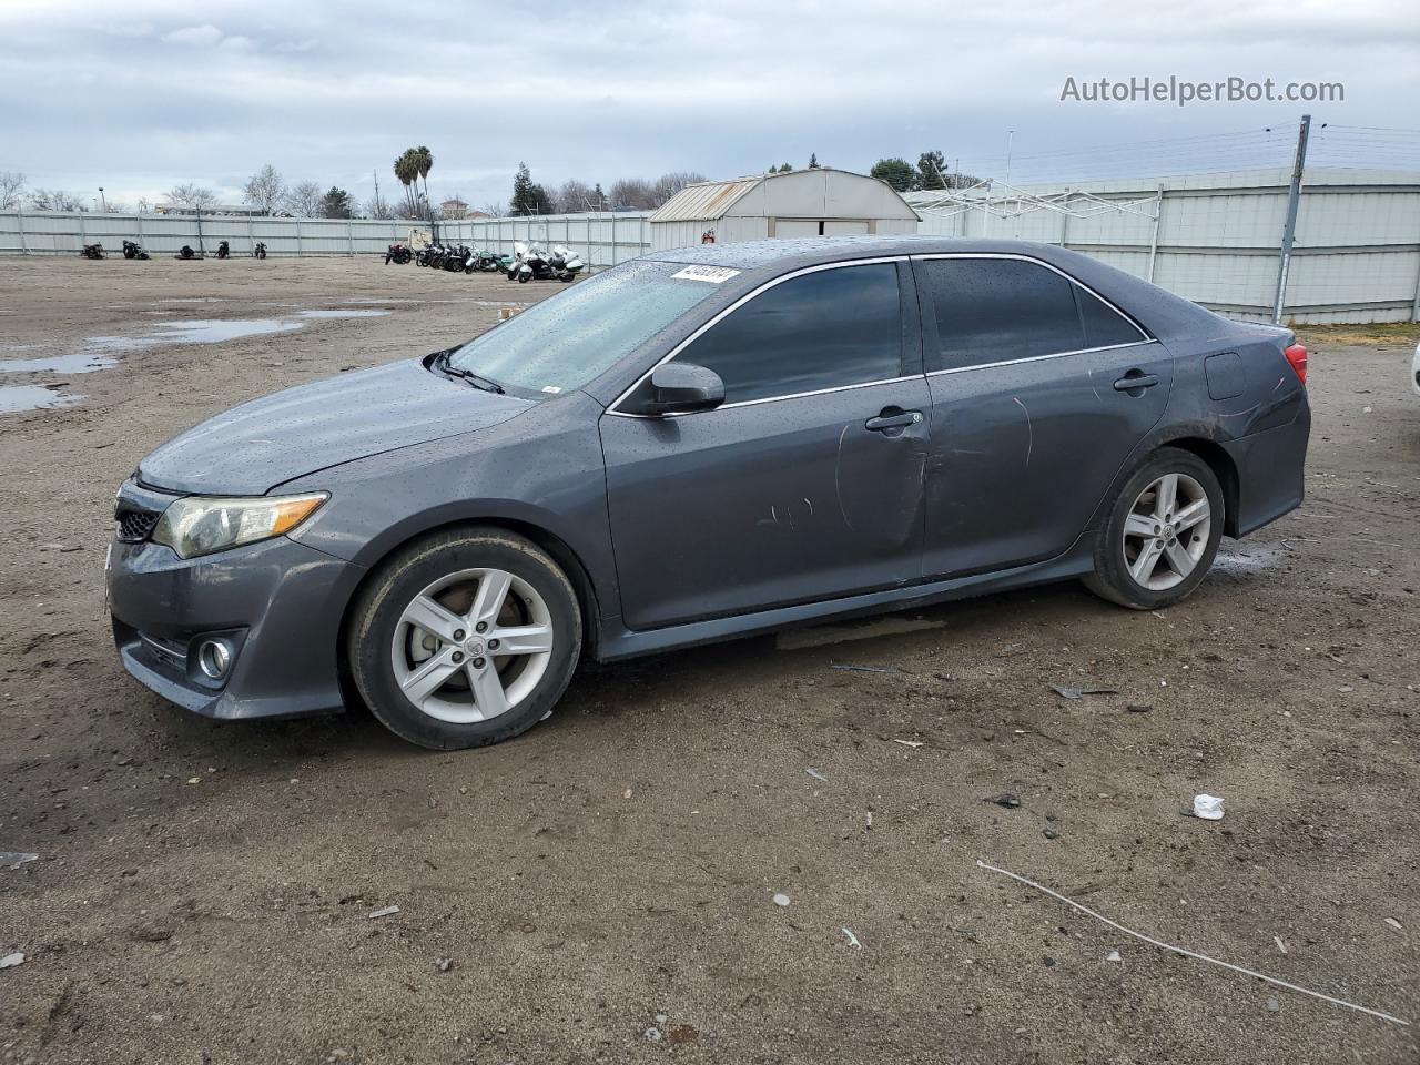
[[[601,419],[623,622],[633,629],[912,584],[922,577],[930,393],[907,263],[770,283],[670,358],[726,402]]]

